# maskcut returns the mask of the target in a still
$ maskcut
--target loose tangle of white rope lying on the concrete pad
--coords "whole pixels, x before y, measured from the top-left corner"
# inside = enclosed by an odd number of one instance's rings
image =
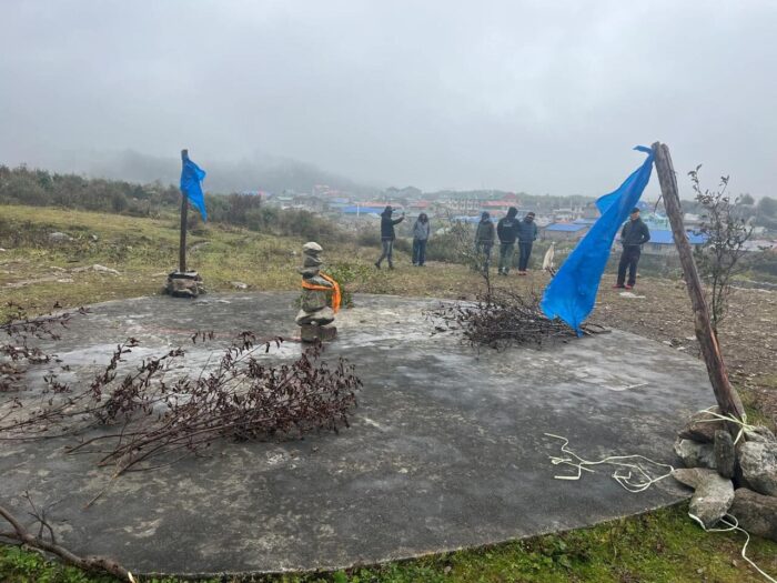
[[[562,440],[564,442],[562,444],[561,451],[562,453],[565,453],[566,456],[556,458],[554,455],[551,455],[551,463],[553,465],[571,465],[577,470],[576,475],[554,475],[553,478],[555,478],[556,480],[579,480],[583,476],[584,471],[595,473],[594,470],[588,468],[591,465],[615,465],[617,468],[612,474],[613,479],[625,490],[628,490],[633,493],[637,493],[644,492],[656,482],[669,478],[674,470],[674,468],[668,463],[659,463],[654,460],[650,460],[649,458],[645,458],[644,455],[609,455],[607,458],[604,458],[603,460],[591,462],[588,460],[584,460],[575,452],[567,449],[569,440],[567,440],[566,438],[562,438],[561,435],[554,435],[553,433],[545,433],[545,435],[547,435],[548,438],[554,438],[556,440]],[[648,465],[652,464],[654,466],[664,468],[668,470],[668,472],[665,472],[664,474],[654,478],[639,463],[629,463],[630,460],[647,462]],[[635,473],[636,475],[634,475]]]

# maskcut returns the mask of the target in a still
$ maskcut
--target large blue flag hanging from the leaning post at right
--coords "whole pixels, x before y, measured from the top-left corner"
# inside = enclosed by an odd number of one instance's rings
[[[632,209],[636,207],[653,170],[653,150],[637,145],[635,150],[647,153],[645,162],[620,184],[618,190],[596,201],[602,217],[577,243],[569,257],[545,289],[541,308],[549,319],[561,318],[577,335],[583,335],[581,324],[588,318],[596,302],[602,273],[607,264],[615,235]]]

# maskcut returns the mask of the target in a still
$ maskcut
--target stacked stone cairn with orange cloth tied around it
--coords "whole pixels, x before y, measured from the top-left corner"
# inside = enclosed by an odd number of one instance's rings
[[[300,338],[303,342],[332,340],[337,334],[337,329],[332,322],[339,302],[333,300],[334,309],[330,308],[326,296],[332,293],[339,299],[340,290],[334,280],[321,273],[322,251],[321,245],[314,242],[302,247],[304,261],[297,270],[302,274],[302,305],[296,314],[296,323],[300,325]]]

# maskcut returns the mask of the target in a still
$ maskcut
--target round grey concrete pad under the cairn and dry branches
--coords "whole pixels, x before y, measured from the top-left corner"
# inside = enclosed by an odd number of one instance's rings
[[[99,304],[73,320],[57,352],[89,379],[134,336],[141,346],[131,358],[181,345],[199,373],[220,343],[192,345],[194,330],[292,336],[294,298]],[[339,314],[339,339],[326,351],[346,356],[364,382],[352,426],[340,434],[221,443],[209,456],[113,482],[94,456],[65,454],[72,441],[4,442],[2,496],[29,490],[41,505],[59,501],[49,516],[78,553],[139,573],[212,574],[410,557],[586,526],[687,495],[672,480],[632,494],[607,468],[554,480],[571,470],[549,463],[558,442],[544,433],[568,438],[588,460],[639,453],[672,463],[684,416],[713,404],[698,361],[618,331],[477,354],[452,333],[433,334],[422,312],[434,301],[357,296],[356,304]],[[300,350],[287,342],[270,356]],[[24,510],[19,497],[11,505]]]

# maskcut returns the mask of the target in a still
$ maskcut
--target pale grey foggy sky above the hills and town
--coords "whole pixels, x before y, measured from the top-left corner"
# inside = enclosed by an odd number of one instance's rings
[[[775,195],[775,31],[769,0],[2,0],[0,163],[188,147],[599,195],[660,140],[685,195],[697,163]]]

